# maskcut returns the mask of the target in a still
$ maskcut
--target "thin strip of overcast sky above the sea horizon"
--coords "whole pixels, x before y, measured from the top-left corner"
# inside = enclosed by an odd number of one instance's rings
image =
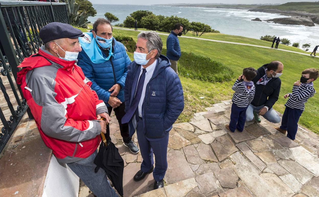
[[[194,4],[194,0],[89,0],[93,4],[137,4],[137,5],[153,5],[153,4]],[[315,0],[308,0],[315,1]],[[287,2],[300,2],[300,0],[197,0],[196,3],[224,3],[224,4],[283,4]]]

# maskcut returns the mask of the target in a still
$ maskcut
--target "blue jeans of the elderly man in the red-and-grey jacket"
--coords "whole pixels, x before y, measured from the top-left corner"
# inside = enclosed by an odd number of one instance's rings
[[[108,177],[103,169],[99,169],[97,173],[94,172],[96,165],[93,163],[97,155],[97,150],[89,157],[74,163],[67,163],[70,169],[78,175],[78,177],[85,183],[86,186],[97,197],[118,197],[115,190],[108,183]]]

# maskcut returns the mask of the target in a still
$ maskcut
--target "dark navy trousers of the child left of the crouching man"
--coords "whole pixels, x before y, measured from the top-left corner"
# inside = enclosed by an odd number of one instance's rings
[[[246,121],[246,110],[247,107],[238,107],[235,103],[232,104],[232,111],[230,114],[229,129],[235,132],[235,129],[242,132],[244,130]]]

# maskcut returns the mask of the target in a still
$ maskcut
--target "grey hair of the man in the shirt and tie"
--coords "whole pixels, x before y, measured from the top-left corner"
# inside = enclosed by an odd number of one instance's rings
[[[146,32],[141,32],[137,35],[137,39],[143,38],[147,40],[146,42],[146,47],[148,52],[150,52],[153,49],[157,49],[157,54],[155,58],[158,58],[162,52],[163,48],[163,42],[159,37],[159,34],[155,31],[146,31]]]

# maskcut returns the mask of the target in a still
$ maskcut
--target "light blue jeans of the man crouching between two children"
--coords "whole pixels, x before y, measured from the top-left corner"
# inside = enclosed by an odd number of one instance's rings
[[[260,105],[258,107],[249,104],[248,108],[246,110],[246,122],[252,121],[254,119],[254,113],[255,111],[257,114],[259,113],[259,110],[263,108],[265,105]],[[266,120],[272,123],[279,123],[280,122],[280,117],[277,114],[277,112],[273,109],[270,108],[264,115],[262,115]]]

